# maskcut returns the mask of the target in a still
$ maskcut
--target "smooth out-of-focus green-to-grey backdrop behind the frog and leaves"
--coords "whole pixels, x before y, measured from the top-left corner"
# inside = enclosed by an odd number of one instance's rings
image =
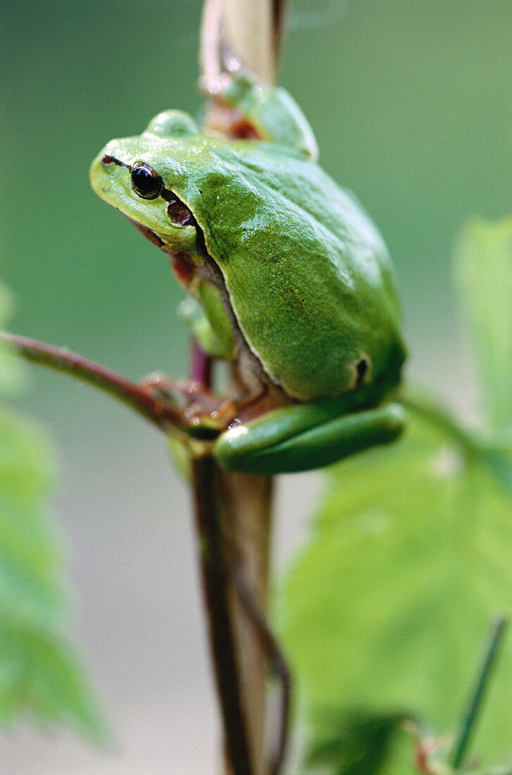
[[[291,3],[280,82],[311,121],[321,164],[356,192],[397,269],[409,374],[476,411],[450,278],[474,214],[510,212],[509,0]],[[0,276],[14,332],[139,378],[181,376],[187,337],[163,253],[95,198],[107,140],[164,108],[196,112],[199,0],[57,0],[0,9]],[[213,773],[208,673],[187,491],[163,439],[91,388],[33,368],[19,410],[46,426],[63,471],[74,630],[115,748],[64,732],[2,735],[9,773]],[[320,484],[319,484],[320,482]],[[277,578],[321,485],[282,477]]]

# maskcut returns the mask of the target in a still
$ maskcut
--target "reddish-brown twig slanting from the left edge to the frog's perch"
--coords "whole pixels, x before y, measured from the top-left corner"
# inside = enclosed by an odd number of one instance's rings
[[[26,336],[0,333],[0,338],[19,356],[50,369],[63,371],[82,382],[98,387],[135,409],[164,432],[183,432],[185,424],[180,413],[149,394],[136,382],[122,377],[101,363],[71,353],[64,347],[54,347]]]

